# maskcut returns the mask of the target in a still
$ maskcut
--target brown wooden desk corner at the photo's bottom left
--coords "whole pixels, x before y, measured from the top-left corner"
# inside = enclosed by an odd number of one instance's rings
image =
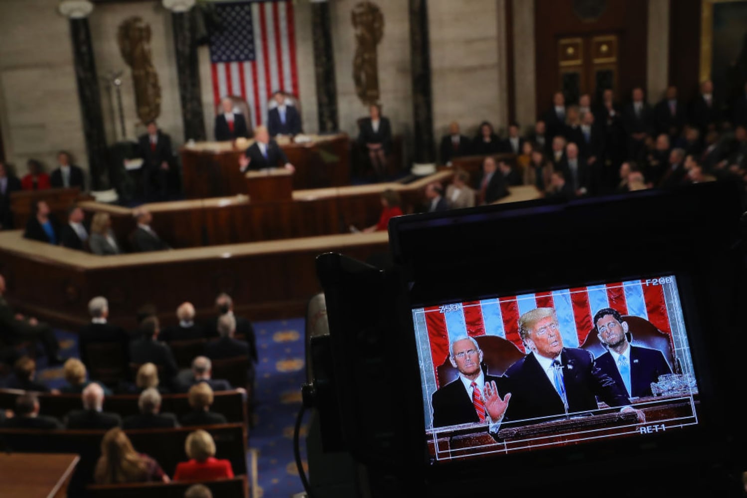
[[[69,453],[0,453],[0,489],[3,498],[65,497],[78,464]]]

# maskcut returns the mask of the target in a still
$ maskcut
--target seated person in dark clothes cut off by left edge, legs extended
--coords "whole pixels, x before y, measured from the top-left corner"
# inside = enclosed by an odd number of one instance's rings
[[[0,341],[13,345],[26,340],[38,340],[44,346],[47,363],[50,366],[62,364],[62,358],[58,355],[60,345],[52,327],[34,317],[13,313],[13,308],[5,300],[6,291],[5,278],[0,275]]]

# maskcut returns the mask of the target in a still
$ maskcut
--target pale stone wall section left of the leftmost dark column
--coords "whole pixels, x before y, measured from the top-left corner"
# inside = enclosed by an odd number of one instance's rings
[[[55,167],[67,149],[88,168],[69,22],[58,0],[0,1],[0,129],[7,161]]]

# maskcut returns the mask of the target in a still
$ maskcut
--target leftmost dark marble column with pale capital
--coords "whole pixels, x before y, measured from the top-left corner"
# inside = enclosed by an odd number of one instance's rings
[[[75,79],[78,83],[91,190],[106,190],[109,188],[108,149],[99,77],[96,75],[96,62],[88,28],[88,15],[93,11],[93,4],[87,0],[65,0],[59,5],[59,10],[70,22]]]

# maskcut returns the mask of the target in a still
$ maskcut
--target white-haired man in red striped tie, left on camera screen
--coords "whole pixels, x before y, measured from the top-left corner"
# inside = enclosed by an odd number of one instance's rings
[[[489,423],[485,406],[486,384],[501,385],[504,379],[486,375],[480,364],[483,351],[473,337],[460,337],[449,344],[449,361],[459,376],[443,385],[431,396],[433,427],[456,426],[463,423]],[[511,394],[502,400],[508,403]]]

